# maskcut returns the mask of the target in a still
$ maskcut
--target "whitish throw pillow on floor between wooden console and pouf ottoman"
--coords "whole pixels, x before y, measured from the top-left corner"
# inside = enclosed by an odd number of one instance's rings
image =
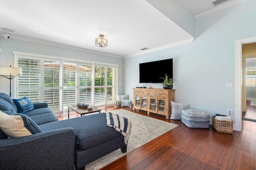
[[[171,117],[170,119],[181,120],[181,110],[188,109],[188,103],[176,103],[171,101]]]

